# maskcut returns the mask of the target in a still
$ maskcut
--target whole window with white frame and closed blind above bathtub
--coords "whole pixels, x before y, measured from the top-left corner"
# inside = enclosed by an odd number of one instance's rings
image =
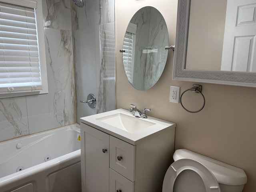
[[[42,2],[11,3],[0,0],[0,98],[47,93]]]

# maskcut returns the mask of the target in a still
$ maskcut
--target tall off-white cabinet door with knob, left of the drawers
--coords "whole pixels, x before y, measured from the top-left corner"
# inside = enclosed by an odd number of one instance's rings
[[[108,192],[109,135],[82,123],[81,131],[82,192]]]

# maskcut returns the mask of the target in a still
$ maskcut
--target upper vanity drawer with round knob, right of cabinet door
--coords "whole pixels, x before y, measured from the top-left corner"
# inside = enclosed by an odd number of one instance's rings
[[[118,138],[109,138],[110,168],[128,178],[135,180],[135,146]]]

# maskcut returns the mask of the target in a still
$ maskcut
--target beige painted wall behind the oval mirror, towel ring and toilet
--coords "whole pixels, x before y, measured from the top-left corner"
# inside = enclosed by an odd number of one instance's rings
[[[193,82],[172,80],[173,52],[160,80],[146,91],[134,89],[124,74],[122,66],[122,41],[132,15],[143,6],[154,6],[164,16],[170,45],[175,42],[177,0],[116,0],[116,107],[128,109],[135,104],[139,109],[148,107],[150,116],[175,122],[175,149],[186,148],[211,158],[244,169],[248,183],[244,192],[256,189],[256,88],[202,85],[206,105],[201,112],[186,112],[180,104],[169,102],[170,86],[180,86],[181,92]],[[191,96],[191,98],[188,98]],[[184,105],[200,108],[200,95],[184,94]],[[190,106],[188,102],[194,102]]]

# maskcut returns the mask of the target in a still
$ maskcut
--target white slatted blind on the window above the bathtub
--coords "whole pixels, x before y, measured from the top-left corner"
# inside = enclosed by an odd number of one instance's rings
[[[0,2],[0,94],[42,90],[35,4],[31,7]]]

